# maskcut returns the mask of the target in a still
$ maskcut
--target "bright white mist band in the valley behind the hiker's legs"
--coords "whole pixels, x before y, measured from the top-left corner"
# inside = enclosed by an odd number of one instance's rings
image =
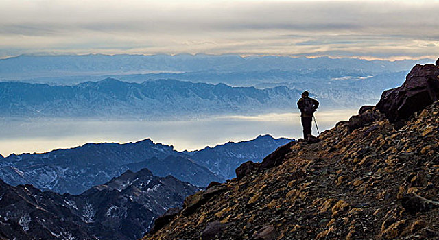
[[[357,110],[316,112],[320,132],[346,121]],[[216,128],[214,128],[216,127]],[[0,123],[0,154],[44,153],[54,149],[79,147],[86,143],[129,143],[151,139],[154,143],[173,145],[177,151],[215,147],[229,141],[248,141],[259,135],[274,138],[302,137],[299,113],[254,116],[230,115],[187,121],[3,121]],[[313,123],[313,134],[317,135]]]

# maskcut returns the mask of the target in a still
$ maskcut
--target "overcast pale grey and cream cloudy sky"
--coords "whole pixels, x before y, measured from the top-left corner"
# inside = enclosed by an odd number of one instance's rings
[[[439,1],[0,0],[0,58],[22,53],[436,59]]]

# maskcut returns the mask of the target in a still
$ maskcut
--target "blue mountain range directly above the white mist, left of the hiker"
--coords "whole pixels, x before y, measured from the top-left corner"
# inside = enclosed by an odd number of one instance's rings
[[[108,78],[75,86],[0,82],[1,117],[181,119],[291,111],[300,91],[177,80],[141,84]]]

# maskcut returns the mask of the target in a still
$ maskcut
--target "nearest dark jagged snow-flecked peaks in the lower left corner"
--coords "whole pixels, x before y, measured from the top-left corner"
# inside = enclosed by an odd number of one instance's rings
[[[0,239],[136,239],[199,189],[147,169],[126,171],[81,195],[0,180]]]

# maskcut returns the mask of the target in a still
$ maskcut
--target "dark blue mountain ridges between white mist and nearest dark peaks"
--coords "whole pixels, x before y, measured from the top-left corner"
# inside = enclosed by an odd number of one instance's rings
[[[235,176],[234,167],[247,160],[260,161],[291,141],[259,136],[193,152],[145,139],[137,143],[87,143],[43,154],[11,154],[0,158],[0,178],[8,184],[32,184],[42,190],[80,194],[114,176],[147,168],[157,176],[174,176],[206,187]]]

